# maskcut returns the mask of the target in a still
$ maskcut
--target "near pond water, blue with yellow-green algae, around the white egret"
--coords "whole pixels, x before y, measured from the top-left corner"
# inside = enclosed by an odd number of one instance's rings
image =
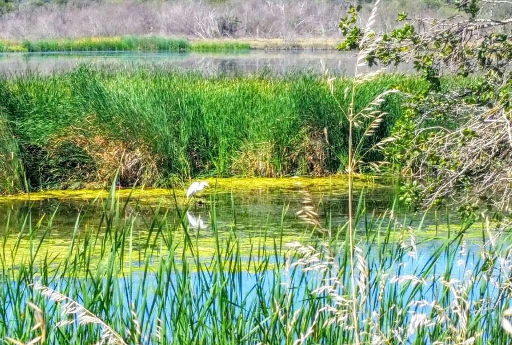
[[[137,314],[144,344],[162,343],[156,334],[168,339],[197,339],[198,334],[215,338],[225,334],[219,326],[224,322],[225,327],[236,327],[240,332],[234,338],[250,335],[247,343],[257,343],[266,334],[267,326],[262,325],[272,322],[268,317],[272,305],[290,308],[291,314],[303,310],[311,317],[324,303],[329,305],[323,297],[318,298],[319,304],[307,301],[317,298],[312,291],[331,282],[332,274],[341,281],[329,293],[336,295],[341,293],[340,286],[350,286],[350,275],[340,273],[348,267],[345,176],[208,182],[210,188],[192,200],[185,198],[186,186],[1,197],[0,266],[4,273],[0,284],[4,289],[0,290],[0,301],[5,301],[6,307],[0,309],[0,324],[7,326],[0,331],[10,336],[12,330],[19,329],[24,334],[28,321],[19,311],[29,301],[46,305],[45,319],[60,322],[63,307],[59,309],[55,301],[67,298],[58,297],[61,292],[102,315],[116,330],[129,327],[127,320]],[[364,206],[359,206],[361,212],[356,217],[356,240],[366,253],[366,259],[357,259],[357,271],[362,272],[361,260],[368,262],[364,264],[368,267],[367,283],[361,283],[358,275],[357,284],[367,286],[371,296],[387,296],[386,303],[395,303],[396,298],[408,303],[404,308],[410,312],[401,321],[404,325],[411,322],[412,313],[433,311],[429,304],[416,307],[408,301],[423,303],[442,294],[452,298],[445,280],[471,281],[467,296],[472,301],[484,298],[485,303],[502,303],[498,288],[488,286],[484,275],[471,273],[482,270],[478,246],[481,226],[465,229],[468,243],[461,245],[457,217],[448,221],[446,212],[430,212],[425,217],[409,213],[396,203],[394,186],[393,181],[382,178],[355,181],[355,203]],[[393,215],[390,209],[394,209]],[[304,210],[318,215],[309,218],[318,221],[316,227],[297,215]],[[387,224],[392,224],[389,230]],[[331,233],[327,238],[334,241],[323,249],[320,243],[324,243],[326,231]],[[300,247],[290,249],[290,243]],[[300,264],[295,250],[304,252],[312,246],[316,247],[312,261]],[[327,264],[328,271],[315,268]],[[422,285],[409,285],[411,279],[420,280]],[[31,285],[34,282],[42,286]],[[47,287],[58,292],[48,292]],[[33,289],[46,294],[34,296]],[[481,291],[486,291],[484,297]],[[478,314],[478,306],[484,302],[471,304],[468,313]],[[380,310],[380,303],[373,298],[361,303],[368,315]],[[499,317],[494,308],[485,310],[487,317]],[[100,331],[88,332],[73,321],[74,315],[70,316],[74,324],[66,328],[68,333],[61,333],[64,328],[49,330],[51,343],[69,339],[85,343],[81,337],[87,337],[87,343],[97,341]],[[313,319],[306,320],[306,325],[313,327]],[[283,336],[276,332],[276,339],[269,343],[284,344]],[[331,336],[327,343],[334,343],[343,334]]]

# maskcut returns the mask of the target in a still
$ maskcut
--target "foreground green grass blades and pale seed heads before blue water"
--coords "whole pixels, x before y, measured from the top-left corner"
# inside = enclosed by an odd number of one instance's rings
[[[97,202],[104,210],[98,227],[83,225],[81,214],[57,250],[49,245],[52,217],[27,211],[23,225],[7,223],[0,337],[48,344],[355,343],[345,227],[330,229],[332,237],[315,227],[290,239],[267,236],[262,225],[261,236],[245,237],[236,217],[229,231],[221,228],[211,203],[205,243],[184,218],[167,220],[168,212],[184,215],[181,206],[144,216],[127,212],[114,191]],[[356,214],[366,213],[364,205]],[[283,225],[289,217],[284,210]],[[510,342],[501,327],[510,291],[505,242],[497,236],[466,243],[472,222],[422,241],[415,235],[421,226],[368,217],[357,229],[361,343]]]

